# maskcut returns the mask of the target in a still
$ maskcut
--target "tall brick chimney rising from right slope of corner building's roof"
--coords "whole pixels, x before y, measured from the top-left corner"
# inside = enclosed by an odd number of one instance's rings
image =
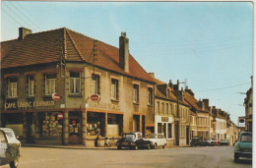
[[[129,38],[126,37],[126,32],[121,32],[119,37],[119,66],[129,73]]]

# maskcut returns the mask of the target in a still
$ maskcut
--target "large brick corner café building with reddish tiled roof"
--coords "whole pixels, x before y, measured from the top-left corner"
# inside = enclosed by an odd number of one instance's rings
[[[1,42],[1,127],[48,144],[154,130],[155,83],[129,54],[125,32],[119,48],[68,28],[19,32]]]

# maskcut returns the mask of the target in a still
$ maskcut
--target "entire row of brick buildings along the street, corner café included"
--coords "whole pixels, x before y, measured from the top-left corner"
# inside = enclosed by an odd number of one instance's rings
[[[164,134],[171,145],[195,136],[232,144],[229,114],[179,84],[147,73],[125,32],[116,48],[68,28],[19,28],[17,39],[1,42],[1,127],[31,143],[88,144],[97,134],[139,131]]]

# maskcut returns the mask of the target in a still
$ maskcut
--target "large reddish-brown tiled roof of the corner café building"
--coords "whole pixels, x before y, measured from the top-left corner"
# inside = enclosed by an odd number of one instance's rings
[[[62,39],[62,40],[61,40]],[[29,66],[57,62],[60,46],[71,62],[93,63],[94,38],[68,28],[58,28],[27,34],[24,39],[1,42],[1,68]],[[14,45],[15,44],[15,45]],[[91,58],[91,59],[90,59]],[[130,55],[129,73],[119,66],[119,49],[102,41],[96,42],[96,66],[123,75],[154,83],[150,75]]]

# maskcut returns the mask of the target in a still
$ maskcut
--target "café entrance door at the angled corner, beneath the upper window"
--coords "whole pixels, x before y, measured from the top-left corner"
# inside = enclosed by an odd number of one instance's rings
[[[81,113],[69,112],[69,143],[82,143]]]

